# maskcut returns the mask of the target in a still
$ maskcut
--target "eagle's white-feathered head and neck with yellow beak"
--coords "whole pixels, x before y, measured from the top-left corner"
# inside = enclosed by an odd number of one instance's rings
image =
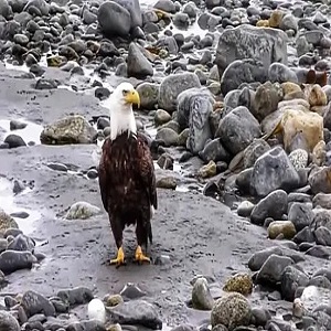
[[[111,140],[125,131],[137,134],[132,104],[140,106],[138,92],[130,83],[119,84],[109,97]]]

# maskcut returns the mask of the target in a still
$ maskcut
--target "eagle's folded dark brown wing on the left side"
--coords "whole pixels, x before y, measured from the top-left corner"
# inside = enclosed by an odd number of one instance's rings
[[[109,189],[109,171],[107,170],[109,164],[109,157],[111,153],[111,140],[106,139],[104,145],[103,145],[103,153],[99,162],[99,170],[98,170],[98,175],[99,175],[99,186],[100,186],[100,193],[102,193],[102,200],[105,210],[108,212],[108,203],[109,203],[109,194],[108,194],[108,189]]]

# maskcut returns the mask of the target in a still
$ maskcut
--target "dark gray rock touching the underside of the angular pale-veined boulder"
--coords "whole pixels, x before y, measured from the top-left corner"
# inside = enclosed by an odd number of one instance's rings
[[[250,222],[263,225],[267,217],[281,220],[282,214],[287,212],[287,193],[282,190],[276,190],[261,199],[252,211]]]

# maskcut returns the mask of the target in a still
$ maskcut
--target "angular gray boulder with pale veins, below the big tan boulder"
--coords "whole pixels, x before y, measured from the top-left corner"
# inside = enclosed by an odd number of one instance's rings
[[[266,196],[278,189],[298,188],[300,178],[285,150],[278,146],[256,160],[250,184],[255,194]]]

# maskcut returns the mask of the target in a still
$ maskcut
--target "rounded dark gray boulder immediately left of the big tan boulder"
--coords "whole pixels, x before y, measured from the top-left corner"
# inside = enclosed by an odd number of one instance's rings
[[[258,138],[260,135],[257,119],[243,106],[227,114],[220,121],[216,131],[216,137],[221,138],[224,147],[233,154],[244,150],[253,142],[254,138]]]

